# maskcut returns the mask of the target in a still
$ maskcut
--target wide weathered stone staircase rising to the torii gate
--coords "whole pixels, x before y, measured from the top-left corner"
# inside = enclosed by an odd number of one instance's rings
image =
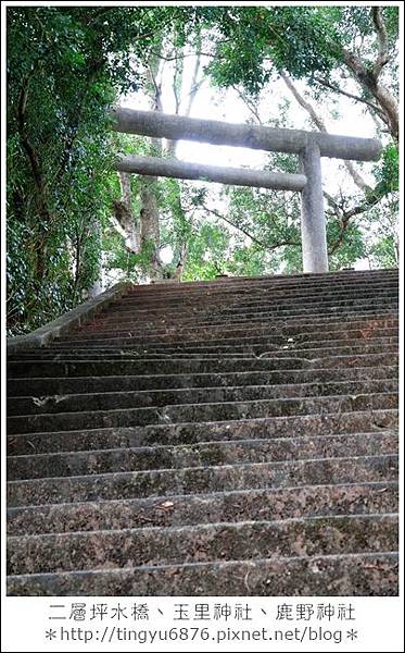
[[[137,286],[8,394],[9,594],[397,593],[397,271]]]

